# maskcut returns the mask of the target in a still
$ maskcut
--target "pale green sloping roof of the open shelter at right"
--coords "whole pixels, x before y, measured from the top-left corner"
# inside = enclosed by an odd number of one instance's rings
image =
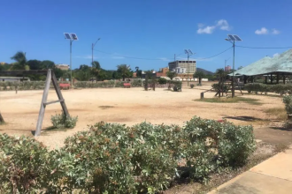
[[[292,49],[274,56],[273,58],[265,56],[255,63],[243,67],[241,70],[235,71],[235,75],[255,76],[269,74],[271,72],[283,72],[292,74]],[[232,76],[232,73],[229,74]]]

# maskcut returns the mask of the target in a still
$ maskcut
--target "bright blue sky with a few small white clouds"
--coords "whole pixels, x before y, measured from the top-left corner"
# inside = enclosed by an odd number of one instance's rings
[[[101,38],[94,55],[107,70],[121,63],[158,70],[174,54],[186,58],[183,49],[190,48],[197,67],[215,71],[232,49],[202,58],[231,47],[224,41],[227,34],[238,34],[239,46],[292,46],[290,0],[0,0],[0,8],[0,61],[6,63],[24,51],[27,59],[69,64],[63,33],[79,37],[73,42],[73,68],[91,63],[91,44]],[[235,48],[235,68],[285,50]]]

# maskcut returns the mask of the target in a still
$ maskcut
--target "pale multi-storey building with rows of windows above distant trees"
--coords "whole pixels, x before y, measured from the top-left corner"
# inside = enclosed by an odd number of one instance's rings
[[[175,61],[168,63],[169,71],[183,74],[194,74],[196,72],[196,61]]]

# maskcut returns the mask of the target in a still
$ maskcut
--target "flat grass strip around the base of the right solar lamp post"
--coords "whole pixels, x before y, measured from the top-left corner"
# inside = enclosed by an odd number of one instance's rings
[[[257,99],[251,98],[242,98],[242,97],[234,97],[234,98],[204,98],[204,99],[197,99],[195,101],[204,101],[204,102],[211,102],[211,103],[238,103],[238,102],[245,102],[253,105],[260,105],[262,103],[259,102]]]

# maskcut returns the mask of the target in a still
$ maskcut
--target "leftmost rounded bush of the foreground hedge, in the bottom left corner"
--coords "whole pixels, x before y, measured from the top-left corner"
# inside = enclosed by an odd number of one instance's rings
[[[49,188],[51,162],[47,148],[34,138],[0,134],[1,193],[37,193]]]

